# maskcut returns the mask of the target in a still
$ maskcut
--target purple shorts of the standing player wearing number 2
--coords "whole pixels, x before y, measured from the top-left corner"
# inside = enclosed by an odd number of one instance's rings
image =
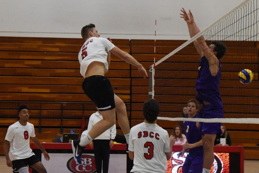
[[[191,156],[187,155],[182,166],[182,173],[202,173],[203,155]]]

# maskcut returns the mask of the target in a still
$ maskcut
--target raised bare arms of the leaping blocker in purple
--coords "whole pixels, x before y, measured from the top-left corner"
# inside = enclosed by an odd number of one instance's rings
[[[195,36],[200,32],[200,29],[194,22],[194,18],[191,10],[189,10],[189,13],[187,14],[185,9],[182,8],[181,12],[182,12],[180,14],[181,18],[183,18],[186,21],[189,34],[192,38],[193,36]],[[205,56],[207,58],[212,76],[216,76],[218,73],[218,58],[215,56],[217,52],[214,52],[214,46],[213,45],[208,46],[203,36],[198,37],[193,43],[199,55],[201,57]]]

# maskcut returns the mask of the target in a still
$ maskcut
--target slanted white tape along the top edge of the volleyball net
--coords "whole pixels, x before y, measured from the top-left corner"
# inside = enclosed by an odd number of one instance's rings
[[[241,8],[242,6],[244,6],[245,4],[247,4],[248,2],[251,2],[251,0],[245,0],[242,3],[240,3],[239,5],[237,5],[235,8],[233,8],[232,10],[230,10],[228,13],[224,14],[221,18],[219,18],[218,20],[216,20],[216,22],[213,22],[212,24],[210,24],[207,28],[203,29],[201,32],[199,32],[198,34],[196,34],[195,36],[193,36],[191,39],[189,39],[188,41],[186,41],[185,43],[183,43],[182,45],[180,45],[177,49],[175,49],[174,51],[172,51],[171,53],[169,53],[168,55],[166,55],[165,57],[163,57],[162,59],[160,59],[159,61],[157,61],[155,63],[155,65],[157,66],[158,64],[160,64],[161,62],[163,62],[164,60],[166,60],[167,58],[169,58],[170,56],[174,55],[176,52],[178,52],[179,50],[181,50],[182,48],[184,48],[185,46],[187,46],[188,44],[192,43],[194,40],[196,40],[197,38],[199,38],[201,35],[203,35],[207,30],[209,30],[210,28],[212,28],[212,26],[218,24],[220,21],[222,21],[223,19],[226,18],[226,16],[229,16],[230,14],[234,13],[235,11],[237,11],[237,9]]]

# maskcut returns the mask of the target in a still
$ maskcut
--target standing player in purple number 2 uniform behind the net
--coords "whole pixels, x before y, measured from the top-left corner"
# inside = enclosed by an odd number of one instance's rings
[[[196,114],[199,109],[199,103],[195,100],[189,100],[187,105],[188,118],[199,118],[199,114]],[[183,150],[178,155],[182,155],[187,149],[189,149],[189,154],[187,155],[182,166],[182,172],[201,173],[203,168],[203,143],[201,139],[201,132],[199,130],[199,123],[185,121],[184,132],[188,142],[183,145]]]

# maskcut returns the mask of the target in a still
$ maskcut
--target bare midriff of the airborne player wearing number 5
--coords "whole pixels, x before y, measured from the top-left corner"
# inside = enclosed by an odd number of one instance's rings
[[[91,64],[89,64],[85,72],[85,77],[89,77],[93,75],[104,76],[104,64],[102,62],[94,61],[94,62],[91,62]]]

